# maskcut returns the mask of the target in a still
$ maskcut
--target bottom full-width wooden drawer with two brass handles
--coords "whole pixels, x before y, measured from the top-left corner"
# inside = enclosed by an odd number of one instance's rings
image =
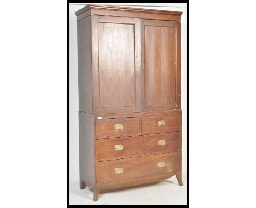
[[[124,182],[179,171],[180,152],[96,162],[96,182]]]

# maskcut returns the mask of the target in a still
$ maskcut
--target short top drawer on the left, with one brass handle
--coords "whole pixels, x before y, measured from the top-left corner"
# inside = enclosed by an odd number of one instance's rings
[[[139,117],[96,120],[96,137],[130,135],[139,135]]]

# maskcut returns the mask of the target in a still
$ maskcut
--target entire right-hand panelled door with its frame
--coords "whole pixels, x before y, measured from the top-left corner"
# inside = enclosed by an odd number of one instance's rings
[[[141,20],[143,111],[180,109],[180,22]]]

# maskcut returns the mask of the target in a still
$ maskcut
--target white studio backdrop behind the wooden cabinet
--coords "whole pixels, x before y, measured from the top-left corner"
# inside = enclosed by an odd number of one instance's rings
[[[75,11],[89,3],[69,4],[69,180],[79,180],[78,57]],[[187,4],[186,3],[92,3],[145,9],[182,11],[181,16],[181,108],[182,174],[187,174]]]

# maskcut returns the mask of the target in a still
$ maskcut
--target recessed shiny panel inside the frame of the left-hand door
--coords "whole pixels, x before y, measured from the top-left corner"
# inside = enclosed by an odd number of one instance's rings
[[[134,25],[99,22],[98,52],[100,108],[135,106]]]

